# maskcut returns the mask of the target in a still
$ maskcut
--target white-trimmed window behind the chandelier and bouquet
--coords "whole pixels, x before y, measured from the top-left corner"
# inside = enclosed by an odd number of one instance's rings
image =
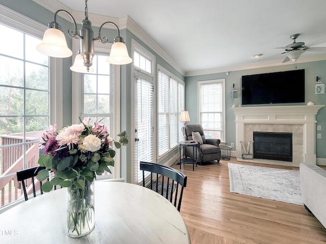
[[[110,44],[94,43],[95,55],[93,57],[93,73],[73,72],[72,81],[72,123],[78,124],[79,118],[91,118],[91,123],[95,120],[105,124],[110,136],[115,138],[120,133],[120,76],[119,67],[106,62]],[[79,40],[73,39],[73,53],[77,53]],[[117,96],[115,96],[117,95]],[[110,167],[112,174],[104,172],[101,178],[120,177],[120,150],[116,150],[115,167]]]

